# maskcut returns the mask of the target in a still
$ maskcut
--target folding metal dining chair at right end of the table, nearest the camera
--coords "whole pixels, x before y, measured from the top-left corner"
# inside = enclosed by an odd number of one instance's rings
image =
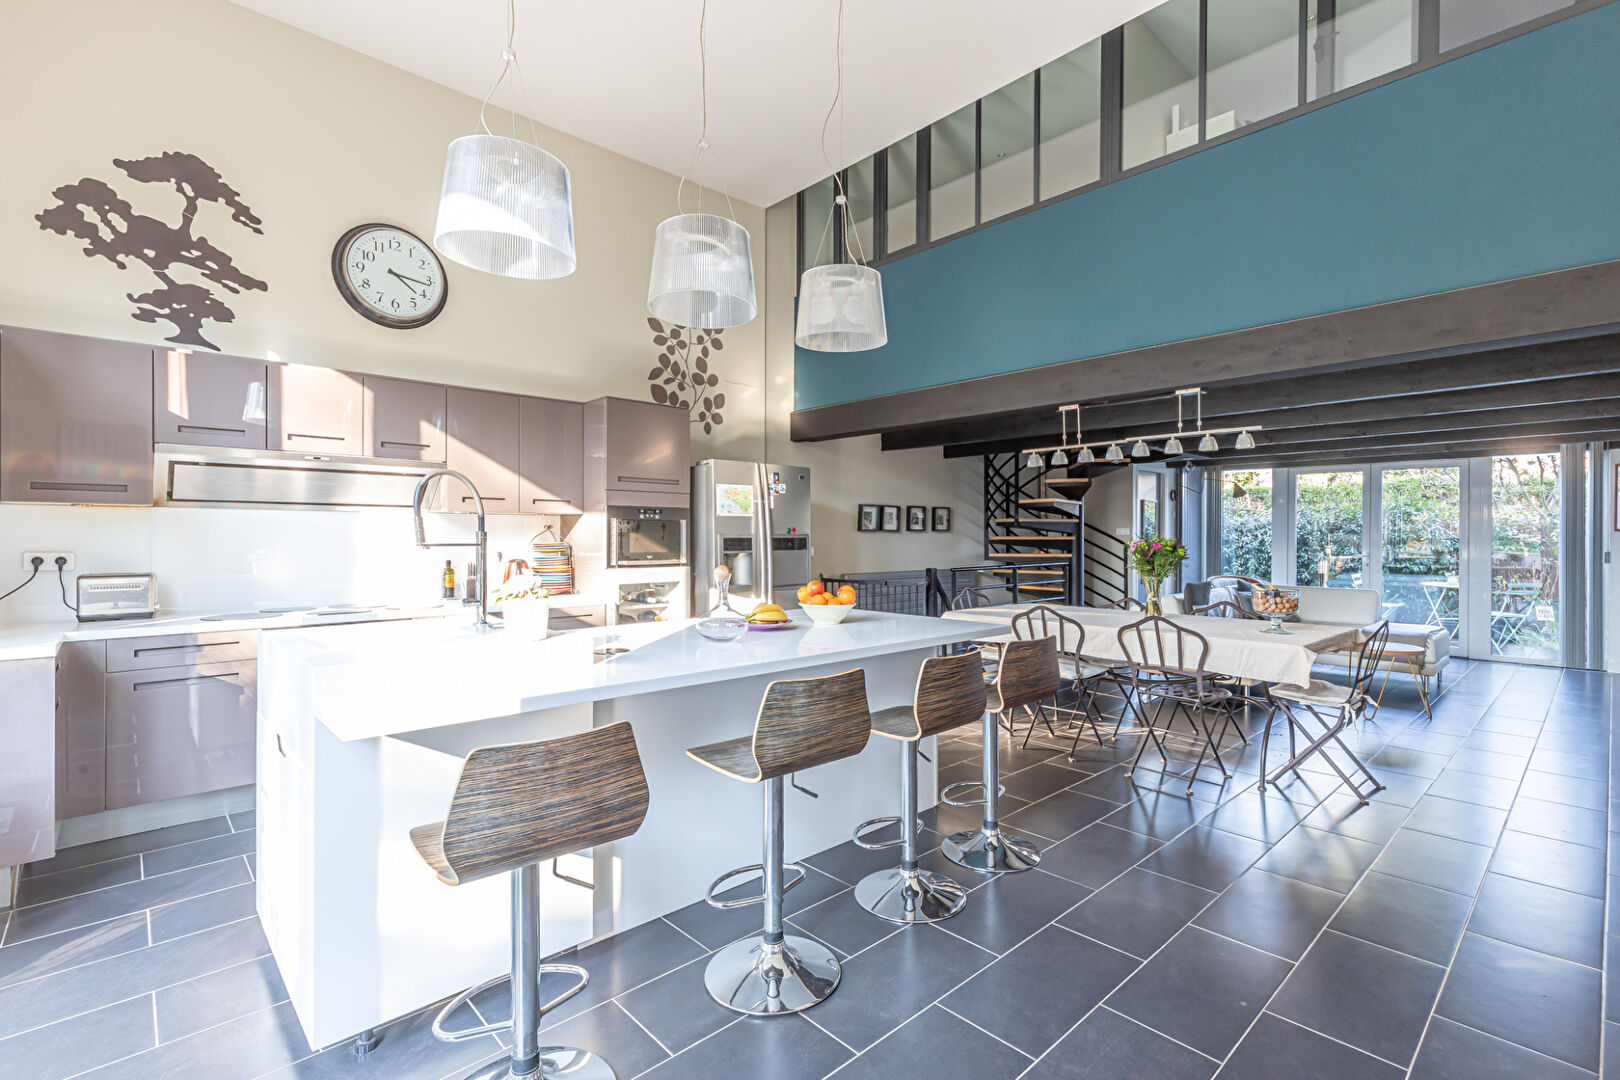
[[[1343,732],[1346,727],[1364,719],[1372,709],[1377,708],[1372,699],[1372,683],[1379,674],[1379,664],[1383,662],[1383,649],[1388,643],[1390,623],[1385,620],[1380,622],[1361,643],[1348,687],[1322,682],[1320,678],[1312,678],[1304,687],[1267,687],[1265,693],[1273,711],[1272,716],[1265,719],[1265,733],[1260,737],[1262,792],[1265,790],[1267,782],[1277,784],[1277,779],[1285,772],[1298,776],[1299,764],[1307,761],[1312,755],[1322,755],[1322,759],[1327,761],[1328,767],[1338,774],[1338,779],[1345,782],[1345,787],[1356,793],[1356,800],[1362,806],[1367,805],[1369,795],[1383,790],[1383,785],[1379,784],[1379,779],[1361,763],[1356,751],[1345,745]],[[1294,745],[1283,767],[1267,777],[1265,751],[1272,738],[1272,721],[1275,719],[1277,709],[1281,709],[1283,716],[1288,717],[1290,743],[1296,743],[1294,735],[1298,733],[1306,740],[1306,745],[1302,750]],[[1301,712],[1315,722],[1315,730],[1312,730],[1312,727],[1302,719]],[[1351,779],[1351,776],[1346,774],[1336,761],[1333,761],[1333,756],[1327,753],[1330,743],[1338,746],[1338,750],[1349,758],[1353,771],[1366,777],[1366,784],[1371,784],[1371,789],[1362,790],[1362,782]]]

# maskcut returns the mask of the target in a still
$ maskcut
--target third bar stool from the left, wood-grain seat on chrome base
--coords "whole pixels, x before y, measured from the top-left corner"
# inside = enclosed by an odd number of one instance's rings
[[[985,678],[978,653],[933,656],[917,674],[912,704],[872,716],[872,733],[897,738],[901,746],[901,813],[855,826],[854,840],[868,852],[901,848],[901,865],[867,874],[855,884],[855,902],[891,923],[936,923],[967,904],[967,889],[944,874],[917,868],[917,743],[985,716]],[[901,839],[875,844],[865,832],[897,821]]]

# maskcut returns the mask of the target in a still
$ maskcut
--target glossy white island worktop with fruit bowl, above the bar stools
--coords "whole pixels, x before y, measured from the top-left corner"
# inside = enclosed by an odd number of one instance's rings
[[[807,665],[854,667],[983,633],[970,622],[883,612],[854,612],[836,627],[812,627],[799,615],[791,630],[750,630],[724,643],[703,638],[695,625],[632,623],[546,640],[509,630],[480,635],[465,617],[295,630],[261,643],[261,678],[288,664],[303,669],[303,706],[352,742]],[[598,656],[609,638],[627,653]],[[274,695],[274,677],[266,682],[261,693]]]

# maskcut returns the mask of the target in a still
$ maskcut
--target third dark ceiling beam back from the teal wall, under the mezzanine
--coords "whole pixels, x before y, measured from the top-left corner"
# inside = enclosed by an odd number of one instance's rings
[[[1369,410],[1367,403],[1349,403],[1345,406],[1315,406],[1304,410],[1286,410],[1281,413],[1251,413],[1234,418],[1221,418],[1223,427],[1254,427],[1256,437],[1267,442],[1288,442],[1299,439],[1366,439],[1375,436],[1405,436],[1416,432],[1466,432],[1474,429],[1495,431],[1507,427],[1545,426],[1558,421],[1581,419],[1620,419],[1620,376],[1604,376],[1605,384],[1586,387],[1588,395],[1567,402],[1547,405],[1523,405],[1513,408],[1469,408],[1474,405],[1473,395],[1419,395],[1416,398],[1400,398],[1383,402],[1382,416],[1362,419]],[[1588,382],[1588,381],[1558,381]],[[1492,395],[1495,400],[1495,395]],[[1398,406],[1398,408],[1393,408]],[[1450,411],[1455,410],[1455,411]],[[1390,416],[1396,411],[1396,416]],[[1348,418],[1348,423],[1336,423]],[[1332,421],[1332,423],[1330,423]],[[1098,431],[1087,434],[1087,442],[1108,440],[1116,444],[1132,442],[1144,436],[1163,436],[1165,429],[1150,431]],[[1221,440],[1230,447],[1231,436]],[[1158,442],[1155,439],[1153,442]],[[1184,439],[1192,449],[1192,437]],[[980,442],[962,447],[946,447],[946,457],[975,457],[980,453],[1014,453],[1027,450],[1030,442]],[[1040,445],[1040,444],[1035,444]],[[1055,444],[1051,444],[1055,445]]]

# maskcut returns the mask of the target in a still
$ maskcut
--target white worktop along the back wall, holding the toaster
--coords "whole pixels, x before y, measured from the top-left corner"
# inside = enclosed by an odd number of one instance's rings
[[[554,606],[569,607],[588,602],[582,596],[554,596]],[[285,612],[274,617],[220,619],[219,612],[167,612],[152,619],[112,619],[107,622],[78,622],[73,617],[45,622],[0,627],[0,661],[29,661],[53,657],[63,641],[105,641],[112,638],[146,638],[168,633],[211,633],[246,630],[298,630],[313,627],[340,627],[353,623],[387,623],[418,619],[471,620],[470,609],[460,601],[450,604],[384,606],[374,609],[343,610],[322,607],[316,610]]]

